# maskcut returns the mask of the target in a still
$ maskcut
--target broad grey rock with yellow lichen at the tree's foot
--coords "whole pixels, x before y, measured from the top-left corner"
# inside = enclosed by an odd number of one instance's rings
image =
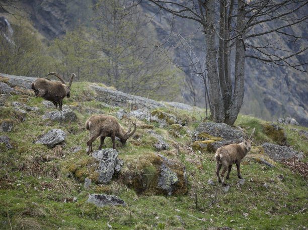
[[[221,138],[220,140],[240,140],[242,139],[241,131],[228,126],[224,123],[211,123],[204,122],[201,123],[194,131],[193,140],[206,140],[204,136],[208,135],[207,140],[213,140],[213,137]],[[216,140],[219,141],[219,140]]]

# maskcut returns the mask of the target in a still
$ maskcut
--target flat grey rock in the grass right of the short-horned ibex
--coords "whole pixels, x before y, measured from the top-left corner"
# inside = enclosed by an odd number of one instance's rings
[[[304,154],[297,152],[290,147],[280,146],[271,143],[264,143],[261,145],[264,148],[265,155],[275,160],[290,159],[296,157],[298,160],[304,158]]]

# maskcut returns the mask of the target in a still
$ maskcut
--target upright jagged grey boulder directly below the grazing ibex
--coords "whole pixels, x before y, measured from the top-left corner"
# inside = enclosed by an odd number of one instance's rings
[[[112,176],[118,173],[123,165],[123,161],[118,159],[118,152],[112,148],[97,150],[92,153],[92,157],[99,161],[96,170],[99,173],[99,184],[108,184]]]

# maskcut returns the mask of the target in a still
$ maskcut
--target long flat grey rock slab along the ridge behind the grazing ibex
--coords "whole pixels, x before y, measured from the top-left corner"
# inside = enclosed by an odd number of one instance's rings
[[[113,106],[126,107],[131,104],[137,109],[165,107],[164,104],[146,97],[133,96],[121,91],[116,91],[97,85],[91,85],[91,87],[97,92],[97,96],[94,96],[96,100],[107,104],[112,104]]]

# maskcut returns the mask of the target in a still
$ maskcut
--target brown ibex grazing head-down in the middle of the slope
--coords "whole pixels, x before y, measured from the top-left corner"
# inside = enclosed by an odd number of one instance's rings
[[[131,124],[134,125],[134,130],[130,133]],[[135,123],[130,122],[126,132],[115,117],[98,114],[89,118],[86,122],[86,129],[89,130],[89,140],[87,141],[87,153],[89,154],[90,152],[93,152],[92,143],[98,136],[101,137],[99,150],[102,149],[106,137],[111,138],[112,148],[116,149],[115,137],[120,138],[121,143],[124,145],[127,139],[135,133],[137,126]]]

